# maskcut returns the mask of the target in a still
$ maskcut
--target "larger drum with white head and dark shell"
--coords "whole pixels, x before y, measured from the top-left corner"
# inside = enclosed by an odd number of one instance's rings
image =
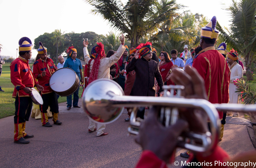
[[[51,89],[60,96],[72,95],[79,87],[79,77],[68,67],[56,70],[50,77]]]

